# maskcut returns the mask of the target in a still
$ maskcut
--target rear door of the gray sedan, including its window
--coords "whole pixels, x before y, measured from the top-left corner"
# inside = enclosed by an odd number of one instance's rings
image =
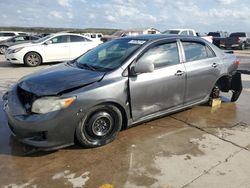
[[[219,58],[203,42],[182,41],[187,85],[185,103],[198,102],[210,95],[220,75]]]

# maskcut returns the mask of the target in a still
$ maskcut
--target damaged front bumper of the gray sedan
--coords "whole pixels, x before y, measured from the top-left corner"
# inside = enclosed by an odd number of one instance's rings
[[[3,101],[9,128],[20,142],[42,150],[74,144],[75,127],[79,120],[72,115],[72,111],[28,114],[18,99],[16,88],[5,93]]]

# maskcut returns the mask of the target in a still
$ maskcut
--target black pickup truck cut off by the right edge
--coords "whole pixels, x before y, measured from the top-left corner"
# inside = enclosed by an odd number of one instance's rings
[[[250,46],[250,32],[235,32],[231,33],[229,37],[221,41],[220,47],[225,49],[237,48],[245,50]]]

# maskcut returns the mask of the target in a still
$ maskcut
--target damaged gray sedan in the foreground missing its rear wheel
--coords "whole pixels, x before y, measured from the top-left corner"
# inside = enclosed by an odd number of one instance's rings
[[[240,96],[239,61],[197,37],[116,39],[22,78],[4,96],[9,127],[43,149],[113,141],[122,128],[218,97]]]

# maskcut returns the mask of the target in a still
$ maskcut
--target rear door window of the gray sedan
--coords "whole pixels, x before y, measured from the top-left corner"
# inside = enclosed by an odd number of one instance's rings
[[[186,62],[215,57],[214,52],[205,44],[197,42],[182,42],[182,45],[185,52]]]

